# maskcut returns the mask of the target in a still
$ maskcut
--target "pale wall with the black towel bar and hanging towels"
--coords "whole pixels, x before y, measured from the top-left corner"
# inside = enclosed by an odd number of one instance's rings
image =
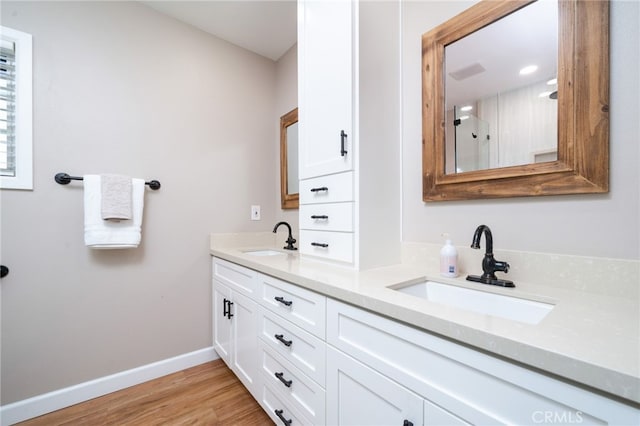
[[[1,7],[34,48],[34,190],[0,194],[2,404],[210,346],[209,234],[276,221],[275,63],[137,2]],[[158,179],[141,246],[87,249],[57,172]]]

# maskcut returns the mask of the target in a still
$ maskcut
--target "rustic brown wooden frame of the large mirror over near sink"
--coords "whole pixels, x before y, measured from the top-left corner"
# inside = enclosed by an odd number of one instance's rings
[[[558,1],[558,160],[445,173],[444,48],[529,3],[483,0],[422,36],[424,201],[609,191],[608,0]]]

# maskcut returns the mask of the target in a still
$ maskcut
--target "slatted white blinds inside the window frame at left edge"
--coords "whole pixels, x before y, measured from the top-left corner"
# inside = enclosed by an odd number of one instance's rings
[[[0,174],[16,175],[16,49],[15,43],[0,44]]]

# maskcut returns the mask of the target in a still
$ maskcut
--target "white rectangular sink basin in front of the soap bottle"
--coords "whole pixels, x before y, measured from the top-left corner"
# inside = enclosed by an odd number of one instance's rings
[[[435,281],[409,284],[394,290],[427,299],[430,302],[527,324],[538,324],[554,307],[551,303],[487,293]]]

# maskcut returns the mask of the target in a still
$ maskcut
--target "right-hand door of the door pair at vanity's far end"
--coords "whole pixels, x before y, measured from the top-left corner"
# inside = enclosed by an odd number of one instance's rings
[[[258,377],[258,304],[246,296],[233,295],[231,369],[255,395]]]

